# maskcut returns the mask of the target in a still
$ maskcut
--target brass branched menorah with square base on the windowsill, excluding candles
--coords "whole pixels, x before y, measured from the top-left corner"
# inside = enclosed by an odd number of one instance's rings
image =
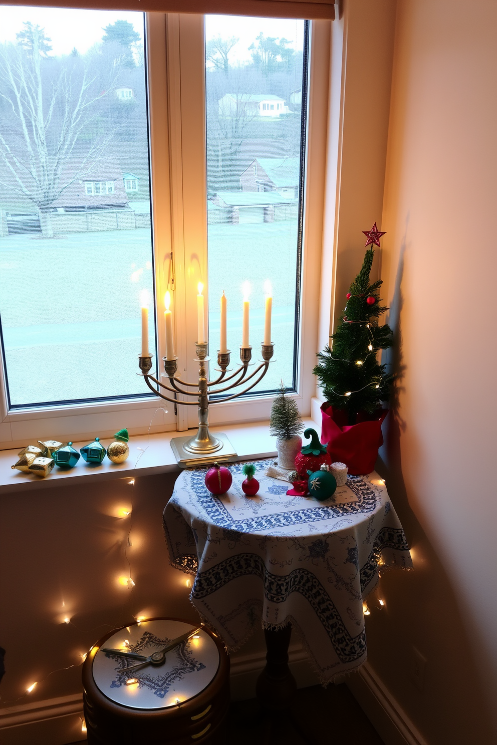
[[[207,342],[196,342],[197,357],[195,362],[198,362],[198,382],[187,383],[181,378],[178,378],[177,373],[177,357],[163,357],[165,374],[168,376],[169,383],[161,383],[157,378],[154,378],[150,374],[152,369],[152,355],[139,355],[139,367],[142,370],[142,375],[145,378],[145,383],[151,389],[151,391],[165,401],[169,401],[173,404],[185,405],[185,406],[198,406],[198,430],[194,437],[174,437],[171,440],[171,448],[173,449],[174,456],[176,457],[177,463],[186,468],[187,466],[202,466],[205,463],[212,463],[214,460],[219,462],[225,462],[227,460],[236,457],[235,448],[229,442],[224,432],[217,432],[214,437],[209,432],[209,405],[213,404],[224,404],[227,401],[243,396],[244,393],[255,387],[265,374],[268,372],[269,363],[273,357],[274,345],[262,343],[262,361],[256,370],[250,375],[247,375],[250,360],[252,359],[252,347],[241,346],[240,347],[240,360],[241,365],[235,373],[227,376],[229,372],[229,349],[226,352],[218,351],[218,366],[220,373],[218,377],[209,381],[206,364],[209,362],[208,351],[209,343]],[[260,373],[260,374],[259,374]],[[224,384],[231,381],[229,385]],[[223,395],[232,388],[246,385],[243,390],[239,390],[237,393],[231,393]],[[162,393],[160,389],[167,390],[173,394],[173,397]],[[194,388],[195,390],[191,390]],[[191,396],[196,398],[196,401],[188,401],[177,398],[177,394],[182,396]],[[215,396],[215,399],[210,399],[210,396]]]

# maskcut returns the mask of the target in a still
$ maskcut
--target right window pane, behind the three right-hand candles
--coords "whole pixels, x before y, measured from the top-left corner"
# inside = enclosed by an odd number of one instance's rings
[[[249,282],[250,344],[260,359],[269,283],[276,361],[259,393],[281,379],[296,387],[307,40],[302,20],[206,16],[210,349],[219,349],[224,291],[227,347],[238,362]]]

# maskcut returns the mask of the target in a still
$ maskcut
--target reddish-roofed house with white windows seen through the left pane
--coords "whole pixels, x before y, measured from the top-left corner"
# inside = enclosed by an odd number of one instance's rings
[[[83,179],[67,186],[52,203],[57,212],[127,209],[127,206],[121,168],[116,162],[103,159],[89,168]]]

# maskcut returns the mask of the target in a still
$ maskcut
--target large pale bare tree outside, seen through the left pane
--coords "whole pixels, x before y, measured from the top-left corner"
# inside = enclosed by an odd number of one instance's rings
[[[0,47],[0,97],[6,110],[0,158],[12,182],[0,183],[37,206],[42,234],[51,238],[52,204],[95,165],[113,138],[110,132],[81,142],[98,114],[98,101],[115,80],[101,90],[98,74],[89,74],[82,57],[48,57],[44,30],[24,26],[17,44]]]

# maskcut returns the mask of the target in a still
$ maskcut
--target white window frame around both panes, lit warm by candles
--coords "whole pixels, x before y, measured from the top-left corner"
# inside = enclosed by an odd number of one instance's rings
[[[316,23],[328,30],[317,34],[311,30],[300,351],[294,394],[305,416],[310,412],[316,387],[311,370],[317,349],[331,22],[311,22],[311,29]],[[205,110],[202,107],[199,116],[197,105],[199,100],[205,100],[204,21],[203,16],[189,13],[147,13],[146,27],[159,359],[162,364],[163,297],[165,290],[170,289],[178,373],[193,381],[198,373],[194,363],[197,320],[191,298],[197,293],[200,276],[208,302]],[[165,208],[167,205],[170,209]],[[137,348],[137,372],[138,354]],[[234,353],[232,362],[236,361]],[[183,431],[197,425],[194,407],[180,405],[175,415],[174,406],[158,397],[8,411],[3,378],[4,370],[0,370],[0,448],[24,446],[28,441],[46,437],[110,437],[123,425],[130,434]],[[214,405],[209,420],[212,424],[228,424],[268,419],[272,400],[272,396],[254,395]]]

